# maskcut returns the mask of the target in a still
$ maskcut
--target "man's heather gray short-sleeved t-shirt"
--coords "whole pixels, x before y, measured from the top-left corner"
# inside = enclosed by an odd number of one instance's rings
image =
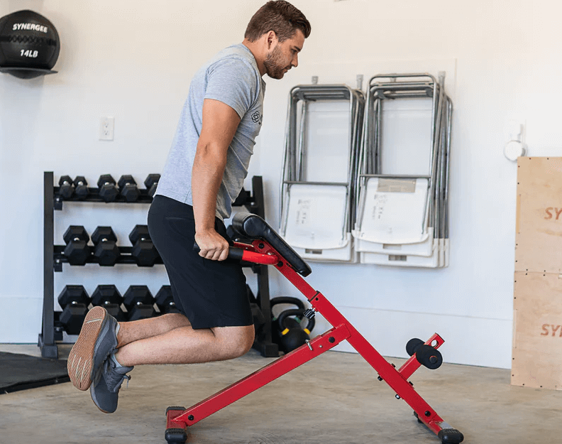
[[[197,71],[155,194],[193,205],[192,168],[202,128],[203,101],[219,100],[241,118],[228,146],[226,168],[216,196],[216,216],[228,219],[232,202],[248,174],[255,138],[260,133],[264,93],[265,82],[255,58],[242,43],[222,50]]]

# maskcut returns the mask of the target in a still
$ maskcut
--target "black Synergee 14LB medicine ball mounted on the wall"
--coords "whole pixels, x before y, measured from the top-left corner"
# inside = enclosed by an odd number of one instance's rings
[[[60,52],[57,30],[33,11],[0,18],[0,70],[28,79],[51,74]]]

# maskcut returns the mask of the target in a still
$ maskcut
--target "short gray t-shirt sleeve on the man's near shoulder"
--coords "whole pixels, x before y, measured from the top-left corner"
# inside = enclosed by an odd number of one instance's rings
[[[255,70],[244,60],[221,60],[207,71],[205,99],[227,104],[242,119],[258,96],[255,77]]]

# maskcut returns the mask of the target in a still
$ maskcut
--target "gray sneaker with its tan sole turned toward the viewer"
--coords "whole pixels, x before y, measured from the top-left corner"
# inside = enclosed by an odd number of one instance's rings
[[[77,389],[87,390],[115,347],[119,323],[103,307],[89,310],[68,355],[68,376]]]

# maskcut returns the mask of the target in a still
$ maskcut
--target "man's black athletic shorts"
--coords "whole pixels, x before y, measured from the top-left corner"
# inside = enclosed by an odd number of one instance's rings
[[[218,217],[215,229],[232,244]],[[148,231],[166,267],[175,304],[193,328],[253,325],[241,264],[204,259],[193,250],[191,205],[156,195],[148,211]]]

